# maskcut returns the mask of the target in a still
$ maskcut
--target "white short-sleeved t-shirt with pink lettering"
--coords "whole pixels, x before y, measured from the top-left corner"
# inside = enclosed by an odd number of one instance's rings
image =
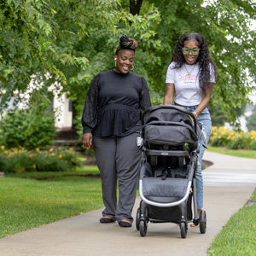
[[[167,69],[166,83],[174,84],[174,102],[183,106],[200,104],[202,90],[199,87],[199,64],[183,64],[182,67],[175,69],[173,67],[175,67],[175,62],[172,62]],[[212,68],[209,83],[215,83]]]

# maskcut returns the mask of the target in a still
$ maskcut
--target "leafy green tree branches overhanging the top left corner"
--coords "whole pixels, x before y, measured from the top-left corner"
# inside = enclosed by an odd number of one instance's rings
[[[95,27],[114,32],[125,19],[119,0],[6,0],[0,3],[1,103],[28,89],[31,76],[49,86],[65,87],[67,77],[57,68],[73,65],[85,70],[89,61],[73,55],[75,39],[88,37]],[[119,16],[120,15],[120,16]]]

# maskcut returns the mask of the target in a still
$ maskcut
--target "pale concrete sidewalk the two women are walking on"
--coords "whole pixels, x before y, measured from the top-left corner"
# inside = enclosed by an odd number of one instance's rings
[[[0,239],[1,256],[182,256],[207,255],[207,248],[229,218],[243,207],[256,185],[256,160],[206,152],[213,165],[203,171],[207,233],[189,227],[186,239],[177,224],[148,223],[147,236],[118,224],[100,224],[102,209]],[[135,218],[140,199],[137,198]]]

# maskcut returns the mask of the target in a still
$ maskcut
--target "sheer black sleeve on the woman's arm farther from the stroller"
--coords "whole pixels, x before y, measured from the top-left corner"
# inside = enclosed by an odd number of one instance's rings
[[[84,104],[84,113],[82,116],[83,133],[90,132],[97,124],[97,104],[98,104],[98,84],[100,74],[90,84]]]

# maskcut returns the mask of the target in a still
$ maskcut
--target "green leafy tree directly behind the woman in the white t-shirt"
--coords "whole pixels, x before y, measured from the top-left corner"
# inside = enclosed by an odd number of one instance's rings
[[[144,1],[145,2],[145,1]],[[151,85],[163,92],[166,68],[172,50],[184,32],[199,32],[207,40],[213,61],[218,68],[218,81],[214,86],[211,104],[222,108],[228,114],[228,121],[236,121],[235,108],[247,105],[247,95],[253,90],[248,75],[255,81],[255,30],[250,20],[255,20],[254,1],[153,1],[160,11],[160,24],[156,38],[161,47],[154,52],[160,56],[159,66],[147,67]],[[203,4],[202,4],[203,3]]]

